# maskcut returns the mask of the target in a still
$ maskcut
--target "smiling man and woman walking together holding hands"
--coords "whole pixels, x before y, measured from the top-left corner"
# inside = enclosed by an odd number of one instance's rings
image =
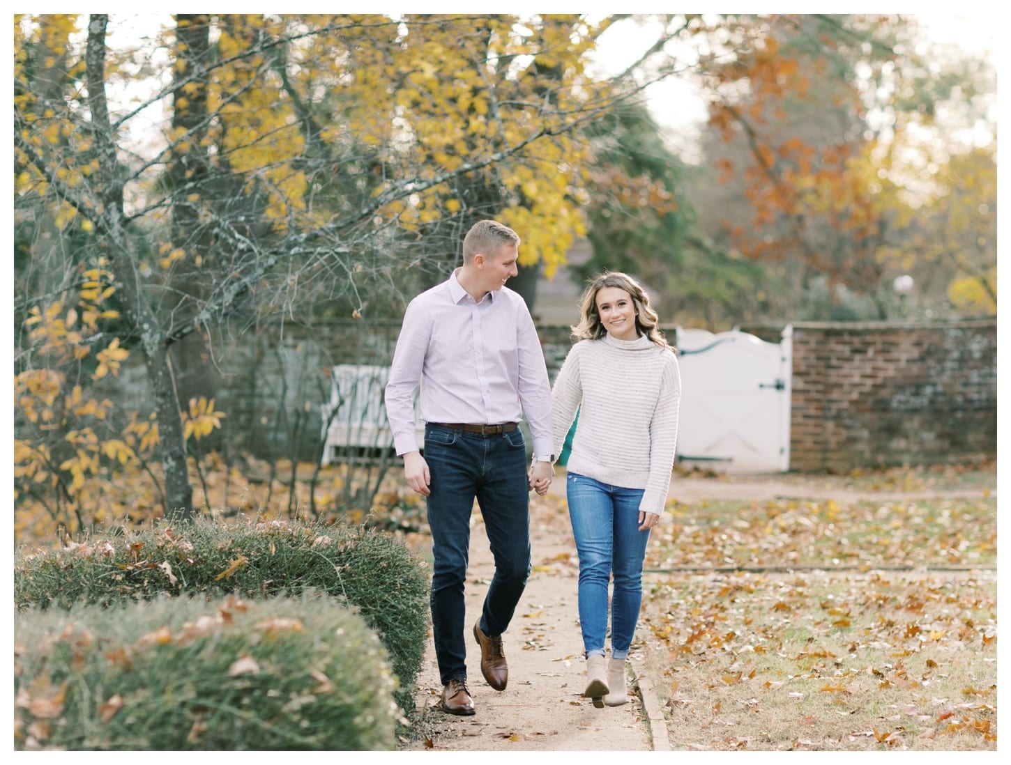
[[[484,679],[503,690],[501,635],[531,570],[529,492],[547,493],[578,412],[566,497],[579,559],[583,695],[598,707],[617,705],[628,700],[625,660],[639,617],[643,559],[674,462],[677,360],[643,288],[621,273],[591,281],[572,327],[576,342],[552,388],[530,311],[504,287],[518,273],[519,246],[519,235],[494,220],[470,228],[462,266],[407,306],[385,392],[404,478],[426,498],[442,706],[453,714],[474,713],[464,625],[474,499],[494,576],[472,632]],[[419,387],[424,445],[415,435]],[[524,416],[533,441],[530,464],[519,427]]]

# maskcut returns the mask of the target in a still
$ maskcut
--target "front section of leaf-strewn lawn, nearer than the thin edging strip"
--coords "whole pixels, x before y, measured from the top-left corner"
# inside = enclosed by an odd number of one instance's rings
[[[994,572],[681,573],[644,595],[675,749],[996,749]]]

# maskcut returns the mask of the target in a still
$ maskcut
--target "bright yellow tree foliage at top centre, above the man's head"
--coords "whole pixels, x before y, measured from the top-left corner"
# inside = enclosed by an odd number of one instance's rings
[[[608,23],[592,27],[572,14],[523,25],[504,14],[405,15],[395,23],[373,14],[229,14],[218,40],[225,63],[208,85],[207,107],[218,116],[212,132],[231,167],[268,189],[264,214],[278,231],[330,220],[331,208],[306,204],[313,179],[305,157],[340,156],[349,135],[381,149],[396,168],[376,197],[404,177],[428,182],[377,211],[377,224],[396,221],[408,231],[461,212],[440,177],[501,154],[491,163],[509,202],[493,214],[523,231],[521,263],[543,262],[550,276],[585,232],[579,190],[589,149],[564,132],[563,115],[574,119],[607,97],[583,62]],[[265,35],[290,40],[283,87],[270,74],[278,71],[272,54],[261,50]],[[299,124],[307,104],[321,120],[316,147]]]

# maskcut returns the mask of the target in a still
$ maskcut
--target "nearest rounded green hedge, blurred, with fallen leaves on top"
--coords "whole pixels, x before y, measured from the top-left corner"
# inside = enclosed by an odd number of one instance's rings
[[[392,750],[394,686],[376,634],[326,595],[14,619],[17,750]]]

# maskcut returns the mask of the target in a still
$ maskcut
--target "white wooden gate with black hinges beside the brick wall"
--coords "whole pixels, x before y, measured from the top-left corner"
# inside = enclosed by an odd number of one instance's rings
[[[677,459],[727,473],[790,469],[793,326],[767,343],[734,329],[677,328]]]

